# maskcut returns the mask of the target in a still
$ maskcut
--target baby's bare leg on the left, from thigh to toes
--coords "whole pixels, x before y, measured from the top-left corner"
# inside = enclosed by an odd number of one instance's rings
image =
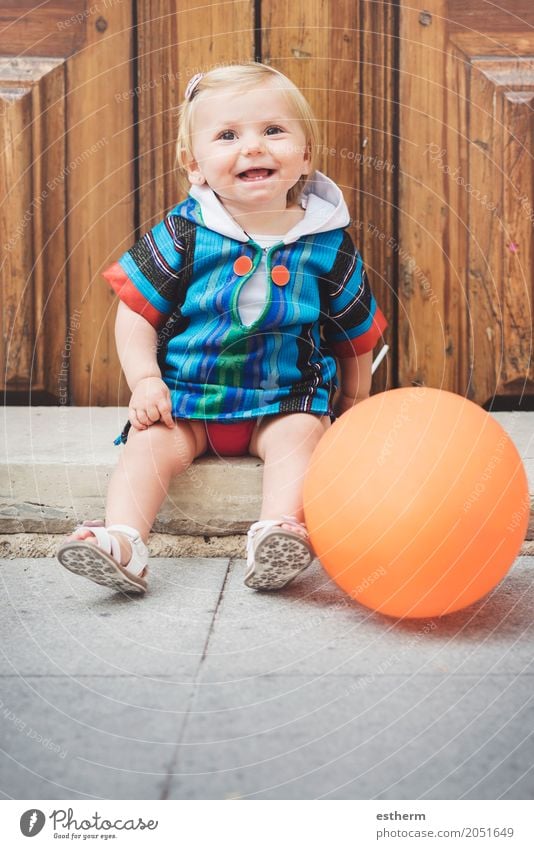
[[[130,525],[146,543],[172,477],[184,472],[205,450],[203,422],[179,420],[172,430],[161,422],[146,430],[132,428],[110,481],[106,525]],[[131,557],[130,542],[123,534],[116,536],[125,565]],[[82,528],[68,539],[96,543],[90,528]]]

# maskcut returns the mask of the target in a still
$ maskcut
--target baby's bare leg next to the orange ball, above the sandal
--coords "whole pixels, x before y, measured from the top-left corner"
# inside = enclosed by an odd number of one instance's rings
[[[265,418],[249,451],[264,462],[260,519],[295,516],[304,521],[302,487],[315,446],[330,427],[328,416],[288,413]],[[291,525],[284,525],[295,530]],[[304,535],[304,532],[303,532]]]

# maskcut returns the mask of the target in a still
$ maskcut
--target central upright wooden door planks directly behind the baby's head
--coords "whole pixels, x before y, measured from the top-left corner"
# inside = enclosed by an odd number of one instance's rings
[[[319,168],[342,188],[351,234],[390,317],[395,305],[395,73],[398,18],[389,2],[233,0],[199,14],[196,0],[138,0],[140,220],[146,230],[174,206],[176,106],[188,79],[254,59],[287,74],[322,130]],[[157,44],[157,49],[154,45]],[[389,244],[388,244],[389,240]],[[393,383],[395,352],[375,379]]]

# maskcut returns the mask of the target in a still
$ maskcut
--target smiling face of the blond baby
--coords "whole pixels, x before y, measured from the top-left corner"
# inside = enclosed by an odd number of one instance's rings
[[[285,209],[288,191],[309,173],[304,132],[273,83],[206,94],[192,142],[190,182],[207,183],[231,214]]]

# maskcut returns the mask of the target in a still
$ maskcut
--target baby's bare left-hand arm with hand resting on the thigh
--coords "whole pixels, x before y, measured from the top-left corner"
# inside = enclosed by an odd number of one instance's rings
[[[119,303],[115,321],[117,352],[132,397],[128,416],[132,427],[146,430],[160,419],[174,427],[171,397],[161,379],[156,355],[157,331],[143,316]]]

